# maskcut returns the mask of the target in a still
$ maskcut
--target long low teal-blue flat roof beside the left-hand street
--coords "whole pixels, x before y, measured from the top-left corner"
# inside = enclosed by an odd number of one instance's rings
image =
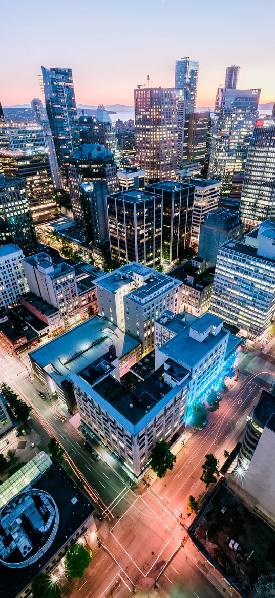
[[[56,380],[80,371],[116,347],[116,355],[125,355],[140,343],[111,322],[93,316],[29,353],[41,368]]]

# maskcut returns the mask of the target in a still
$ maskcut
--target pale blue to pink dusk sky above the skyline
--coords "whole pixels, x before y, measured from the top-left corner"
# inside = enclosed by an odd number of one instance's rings
[[[133,105],[137,84],[174,86],[175,60],[199,60],[197,106],[214,106],[225,68],[275,102],[273,0],[2,0],[0,102],[42,97],[41,65],[73,70],[76,103]],[[3,26],[4,24],[4,26]]]

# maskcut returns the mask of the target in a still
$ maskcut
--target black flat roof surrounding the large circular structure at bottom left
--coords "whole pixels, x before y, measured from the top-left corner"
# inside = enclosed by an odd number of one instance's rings
[[[14,474],[10,478],[11,485],[16,483],[16,475]],[[13,480],[13,478],[15,479]],[[22,569],[10,569],[0,563],[1,593],[5,598],[17,596],[61,550],[67,539],[75,534],[78,529],[81,529],[85,521],[95,511],[94,505],[55,460],[47,471],[42,474],[42,477],[32,483],[32,488],[44,490],[54,499],[59,514],[57,534],[45,554],[33,565]],[[76,499],[76,501],[73,501],[73,499]]]

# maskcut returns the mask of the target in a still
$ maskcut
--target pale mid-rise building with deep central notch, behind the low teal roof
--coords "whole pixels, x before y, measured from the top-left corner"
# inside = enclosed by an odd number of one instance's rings
[[[104,274],[97,283],[98,313],[143,345],[154,348],[154,322],[180,309],[180,280],[136,262]]]

